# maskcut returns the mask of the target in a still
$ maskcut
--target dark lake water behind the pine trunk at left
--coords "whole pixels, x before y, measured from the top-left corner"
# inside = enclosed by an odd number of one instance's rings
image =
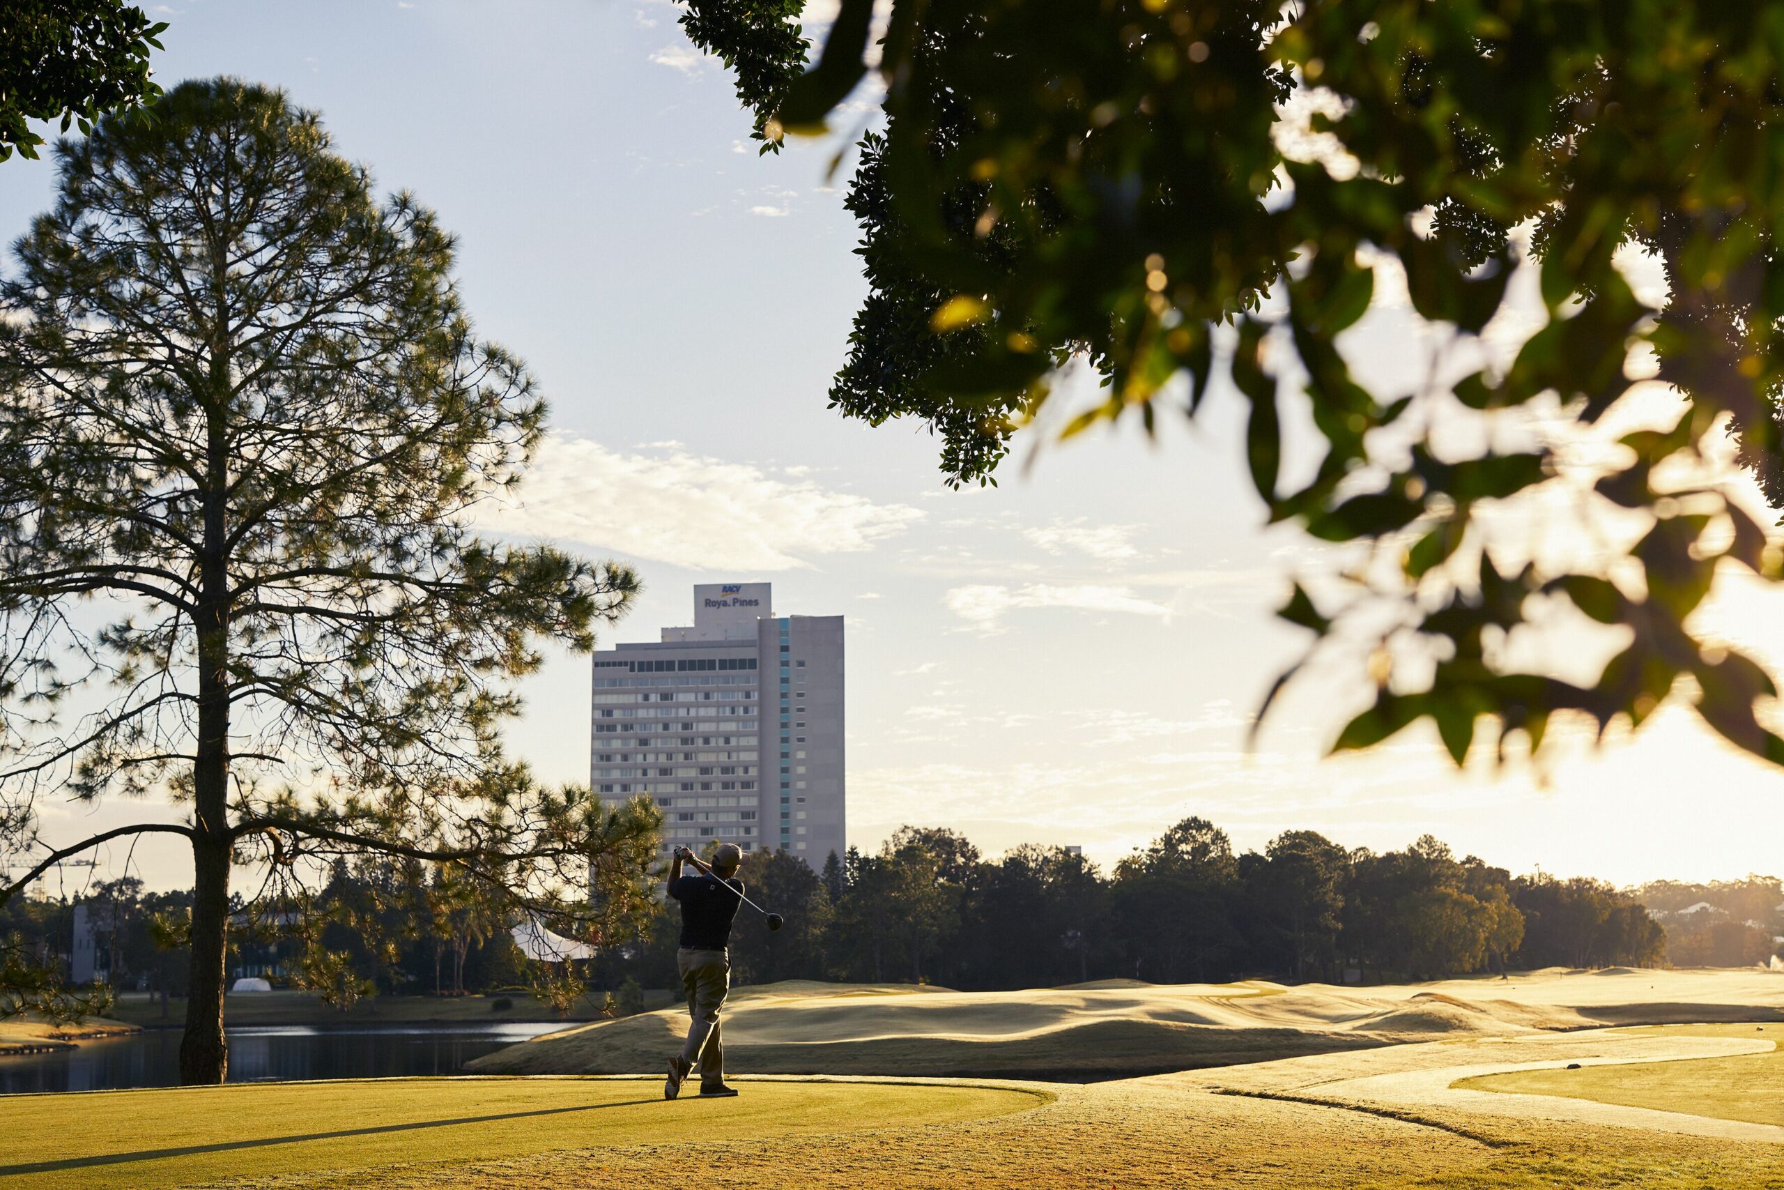
[[[241,1026],[228,1033],[228,1081],[457,1074],[466,1062],[574,1022]],[[80,1042],[50,1054],[0,1058],[0,1094],[180,1085],[180,1029]]]

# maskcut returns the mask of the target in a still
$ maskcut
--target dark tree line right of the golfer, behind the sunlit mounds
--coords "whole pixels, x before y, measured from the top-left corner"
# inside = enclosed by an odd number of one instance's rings
[[[985,856],[904,826],[878,853],[821,871],[751,855],[749,896],[787,917],[739,919],[735,978],[938,983],[962,990],[1090,979],[1379,983],[1538,967],[1657,965],[1666,937],[1602,880],[1513,876],[1425,835],[1404,851],[1345,849],[1293,830],[1236,853],[1188,817],[1103,872],[1076,851]],[[608,954],[601,979],[673,985],[674,906],[651,940]]]

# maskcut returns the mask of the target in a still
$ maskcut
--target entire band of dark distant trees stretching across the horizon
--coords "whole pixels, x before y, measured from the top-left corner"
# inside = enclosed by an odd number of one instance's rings
[[[1513,876],[1477,856],[1456,858],[1431,835],[1402,851],[1370,851],[1292,830],[1263,851],[1236,853],[1201,817],[1108,872],[1065,847],[1024,844],[987,856],[956,831],[904,826],[876,853],[831,853],[817,871],[785,851],[756,853],[742,876],[751,899],[787,924],[771,933],[751,910],[740,913],[731,933],[737,981],[962,990],[1113,978],[1383,983],[1689,963],[1697,951],[1677,937],[1668,954],[1668,930],[1643,892],[1672,905],[1709,888]],[[1757,905],[1773,887],[1754,881],[1748,899]],[[145,892],[125,878],[82,899],[109,988],[186,994],[189,892]],[[37,960],[62,960],[66,976],[71,905],[18,897],[0,906],[0,935]],[[314,896],[237,901],[230,971],[316,990],[343,1010],[376,996],[524,988],[562,1012],[635,1012],[640,988],[678,983],[673,901],[657,903],[633,940],[576,963],[528,958],[512,937],[519,922],[512,906],[450,867],[341,860]],[[1739,962],[1764,956],[1743,951]]]

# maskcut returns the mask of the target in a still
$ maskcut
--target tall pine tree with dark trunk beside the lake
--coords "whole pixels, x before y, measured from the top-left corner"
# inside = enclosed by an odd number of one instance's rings
[[[453,239],[378,200],[314,112],[230,79],[57,145],[0,280],[0,855],[194,858],[182,1076],[218,1081],[230,872],[448,865],[560,931],[642,912],[657,817],[503,749],[539,642],[591,649],[632,569],[478,537],[544,426]],[[64,847],[46,796],[171,792]],[[246,910],[248,921],[260,910]]]

